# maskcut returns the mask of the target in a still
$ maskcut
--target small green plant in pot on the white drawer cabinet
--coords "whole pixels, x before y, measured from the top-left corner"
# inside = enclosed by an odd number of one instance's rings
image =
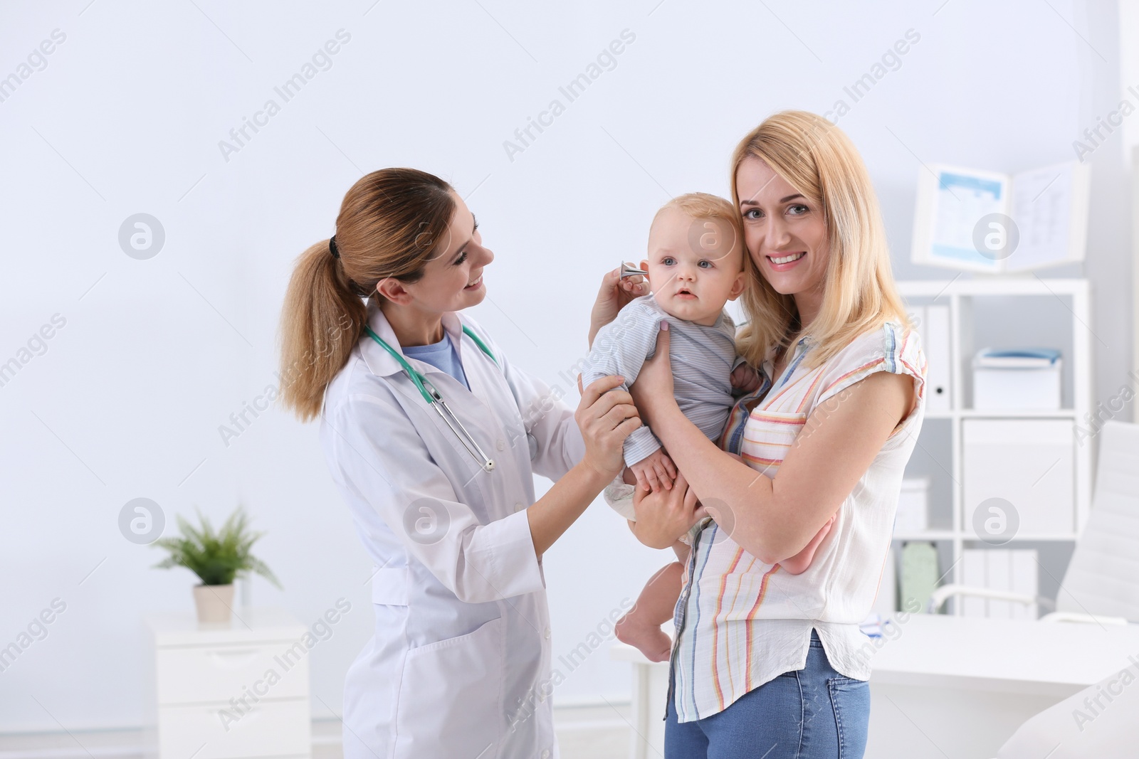
[[[170,551],[169,556],[155,564],[156,568],[186,567],[202,580],[200,585],[194,586],[198,621],[230,620],[235,577],[245,577],[254,571],[281,587],[269,567],[249,553],[249,548],[264,533],[247,530],[248,517],[240,506],[229,515],[216,534],[200,511],[198,520],[202,526],[194,527],[178,514],[181,535],[158,538],[151,544]]]

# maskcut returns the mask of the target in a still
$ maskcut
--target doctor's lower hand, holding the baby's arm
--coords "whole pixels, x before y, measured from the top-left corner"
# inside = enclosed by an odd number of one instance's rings
[[[625,378],[611,374],[593,380],[582,390],[577,376],[581,402],[573,418],[585,440],[582,463],[611,480],[625,467],[625,438],[641,426],[632,396],[620,389],[624,381]]]

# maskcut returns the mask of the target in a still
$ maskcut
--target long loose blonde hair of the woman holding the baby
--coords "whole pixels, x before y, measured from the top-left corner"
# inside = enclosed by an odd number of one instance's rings
[[[748,283],[740,299],[748,322],[739,332],[737,348],[747,362],[759,366],[771,346],[789,347],[804,328],[812,341],[804,365],[814,368],[886,321],[909,327],[890,267],[878,199],[850,138],[822,116],[804,110],[769,116],[732,154],[731,198],[737,213],[736,176],[739,165],[751,157],[762,159],[788,184],[820,204],[830,257],[822,307],[810,324],[801,324],[794,297],[777,292],[752,256],[744,256]]]

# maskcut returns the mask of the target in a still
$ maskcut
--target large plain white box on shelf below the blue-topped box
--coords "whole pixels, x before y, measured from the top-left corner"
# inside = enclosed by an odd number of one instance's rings
[[[1009,534],[1071,534],[1075,529],[1075,443],[1063,419],[966,419],[961,422],[966,533],[980,539]],[[1009,505],[1013,513],[1008,512]],[[988,521],[990,518],[993,521]],[[991,528],[991,529],[990,529]]]

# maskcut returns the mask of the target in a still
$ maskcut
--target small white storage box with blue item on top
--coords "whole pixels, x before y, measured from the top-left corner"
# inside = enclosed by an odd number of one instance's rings
[[[978,411],[1060,407],[1060,354],[1051,348],[997,350],[973,357],[973,407]]]

